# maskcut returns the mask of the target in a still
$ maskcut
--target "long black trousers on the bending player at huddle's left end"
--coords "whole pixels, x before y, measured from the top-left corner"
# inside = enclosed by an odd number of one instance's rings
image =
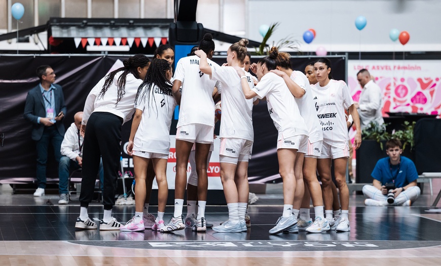
[[[89,117],[83,146],[81,207],[88,207],[92,201],[100,158],[104,169],[104,210],[111,210],[115,205],[115,185],[121,168],[122,124],[121,117],[107,112],[94,112]]]

